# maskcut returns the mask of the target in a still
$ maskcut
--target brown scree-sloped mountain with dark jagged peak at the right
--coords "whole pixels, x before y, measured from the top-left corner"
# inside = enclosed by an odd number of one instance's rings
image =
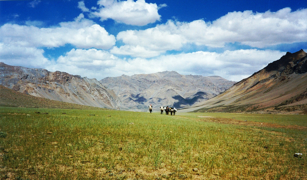
[[[227,91],[183,112],[307,113],[307,53],[287,52]]]

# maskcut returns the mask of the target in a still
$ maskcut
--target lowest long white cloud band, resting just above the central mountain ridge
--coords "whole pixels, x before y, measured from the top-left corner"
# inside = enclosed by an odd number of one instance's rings
[[[59,57],[49,69],[101,80],[107,76],[133,75],[176,70],[181,74],[221,76],[239,81],[278,60],[285,52],[273,50],[235,50],[223,53],[198,51],[157,58],[121,59],[97,49],[72,49]]]

